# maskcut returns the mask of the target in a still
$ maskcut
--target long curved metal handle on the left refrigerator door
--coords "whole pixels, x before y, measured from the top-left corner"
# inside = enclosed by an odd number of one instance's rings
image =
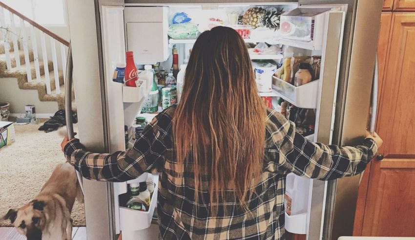
[[[66,59],[66,82],[65,82],[65,115],[66,115],[66,129],[68,131],[69,139],[74,138],[74,126],[72,122],[72,72],[73,72],[73,63],[72,63],[72,49],[71,43],[69,42],[68,48],[68,57]],[[81,191],[83,193],[83,178],[80,172],[76,171],[76,176],[78,177],[79,185],[81,186]]]

